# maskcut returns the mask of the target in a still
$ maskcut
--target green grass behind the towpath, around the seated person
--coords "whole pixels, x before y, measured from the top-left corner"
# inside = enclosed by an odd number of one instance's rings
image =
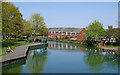
[[[8,46],[14,51],[16,47],[22,46],[22,45],[29,45],[29,44],[34,44],[30,42],[25,42],[25,41],[17,41],[17,40],[3,40],[2,41],[2,52],[0,53],[0,56],[2,55],[7,55],[10,52],[6,52],[6,49]]]

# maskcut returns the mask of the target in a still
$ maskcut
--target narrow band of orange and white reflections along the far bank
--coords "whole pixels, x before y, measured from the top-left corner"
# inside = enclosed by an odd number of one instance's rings
[[[104,51],[102,49],[94,49],[92,47],[87,48],[87,47],[81,47],[76,44],[68,44],[68,43],[59,43],[59,42],[48,42],[48,48],[49,49],[57,49],[57,50],[69,50],[69,51],[75,51],[75,50],[81,50],[82,52],[86,52],[87,49],[91,53],[96,53],[99,52],[99,54],[103,54],[106,56],[111,56],[111,55],[116,55],[116,52],[114,51]],[[87,51],[87,52],[88,52]]]

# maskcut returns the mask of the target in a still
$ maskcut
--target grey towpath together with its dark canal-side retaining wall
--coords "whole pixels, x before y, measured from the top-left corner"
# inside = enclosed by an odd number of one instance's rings
[[[19,62],[21,60],[26,60],[26,57],[27,57],[27,54],[28,54],[28,51],[30,48],[32,48],[32,47],[44,47],[47,45],[48,45],[47,43],[45,43],[45,44],[36,43],[36,44],[32,44],[32,45],[19,46],[14,50],[13,53],[10,53],[10,54],[4,55],[4,56],[0,56],[0,58],[1,58],[0,67]]]

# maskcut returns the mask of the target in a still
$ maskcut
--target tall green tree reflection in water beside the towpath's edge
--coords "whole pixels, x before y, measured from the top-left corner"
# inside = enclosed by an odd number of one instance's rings
[[[31,73],[42,73],[47,60],[47,52],[41,53],[40,50],[31,50],[27,56],[27,68]]]

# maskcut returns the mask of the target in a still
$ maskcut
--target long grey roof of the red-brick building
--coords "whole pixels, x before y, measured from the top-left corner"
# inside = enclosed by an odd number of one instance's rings
[[[79,33],[83,28],[49,28],[49,32],[73,32]]]

